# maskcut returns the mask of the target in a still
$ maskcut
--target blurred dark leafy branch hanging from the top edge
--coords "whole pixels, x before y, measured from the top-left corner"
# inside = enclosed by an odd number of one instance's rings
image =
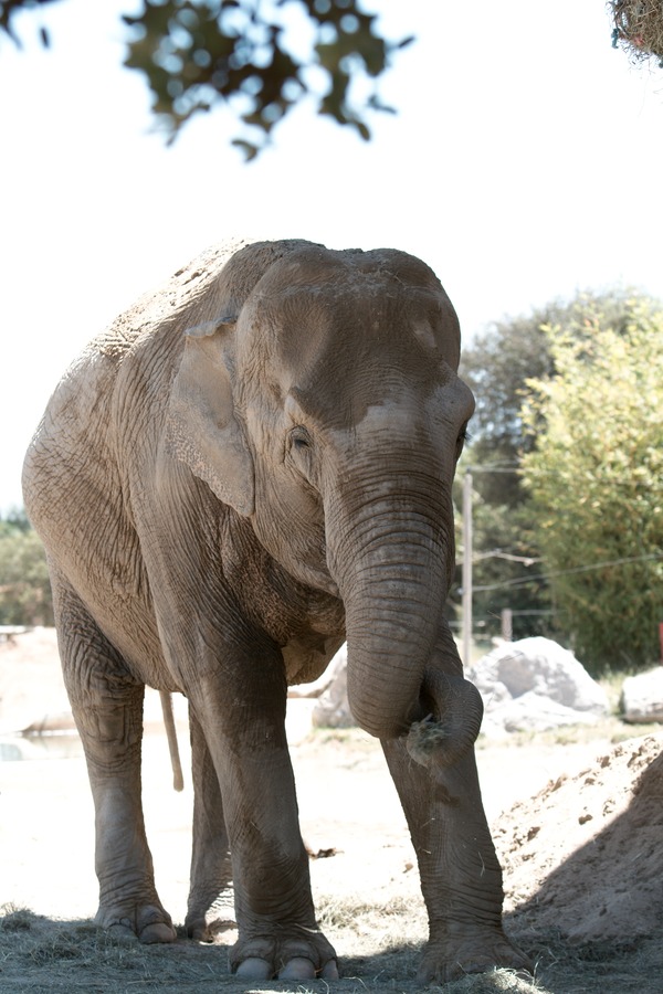
[[[0,29],[18,43],[12,15],[53,2],[0,0]],[[377,15],[358,0],[141,2],[138,13],[123,17],[129,28],[125,65],[146,76],[169,139],[196,114],[225,103],[244,126],[233,144],[248,158],[306,96],[318,114],[370,138],[368,112],[391,109],[376,81],[411,41],[385,39]]]

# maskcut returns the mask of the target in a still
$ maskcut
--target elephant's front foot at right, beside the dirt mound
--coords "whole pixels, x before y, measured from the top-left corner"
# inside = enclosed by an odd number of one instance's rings
[[[499,928],[473,930],[471,935],[431,940],[417,972],[421,984],[448,984],[466,973],[485,973],[495,966],[532,973],[534,964]]]

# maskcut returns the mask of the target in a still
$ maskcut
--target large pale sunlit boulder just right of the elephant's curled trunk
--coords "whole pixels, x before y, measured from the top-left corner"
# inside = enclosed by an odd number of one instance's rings
[[[591,722],[609,711],[600,685],[549,638],[505,642],[469,667],[466,676],[483,698],[486,736]]]

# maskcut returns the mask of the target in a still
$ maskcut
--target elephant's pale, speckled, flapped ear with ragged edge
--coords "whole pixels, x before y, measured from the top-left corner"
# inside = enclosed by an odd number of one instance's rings
[[[253,511],[253,458],[235,415],[234,321],[189,328],[170,393],[169,451],[241,515]]]

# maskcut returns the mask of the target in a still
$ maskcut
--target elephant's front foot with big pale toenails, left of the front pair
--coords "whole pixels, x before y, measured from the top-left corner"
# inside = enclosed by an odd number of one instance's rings
[[[307,981],[316,976],[338,980],[336,953],[322,932],[306,929],[291,939],[280,934],[255,935],[246,942],[233,945],[230,965],[242,980],[266,981],[273,977],[287,981]]]

